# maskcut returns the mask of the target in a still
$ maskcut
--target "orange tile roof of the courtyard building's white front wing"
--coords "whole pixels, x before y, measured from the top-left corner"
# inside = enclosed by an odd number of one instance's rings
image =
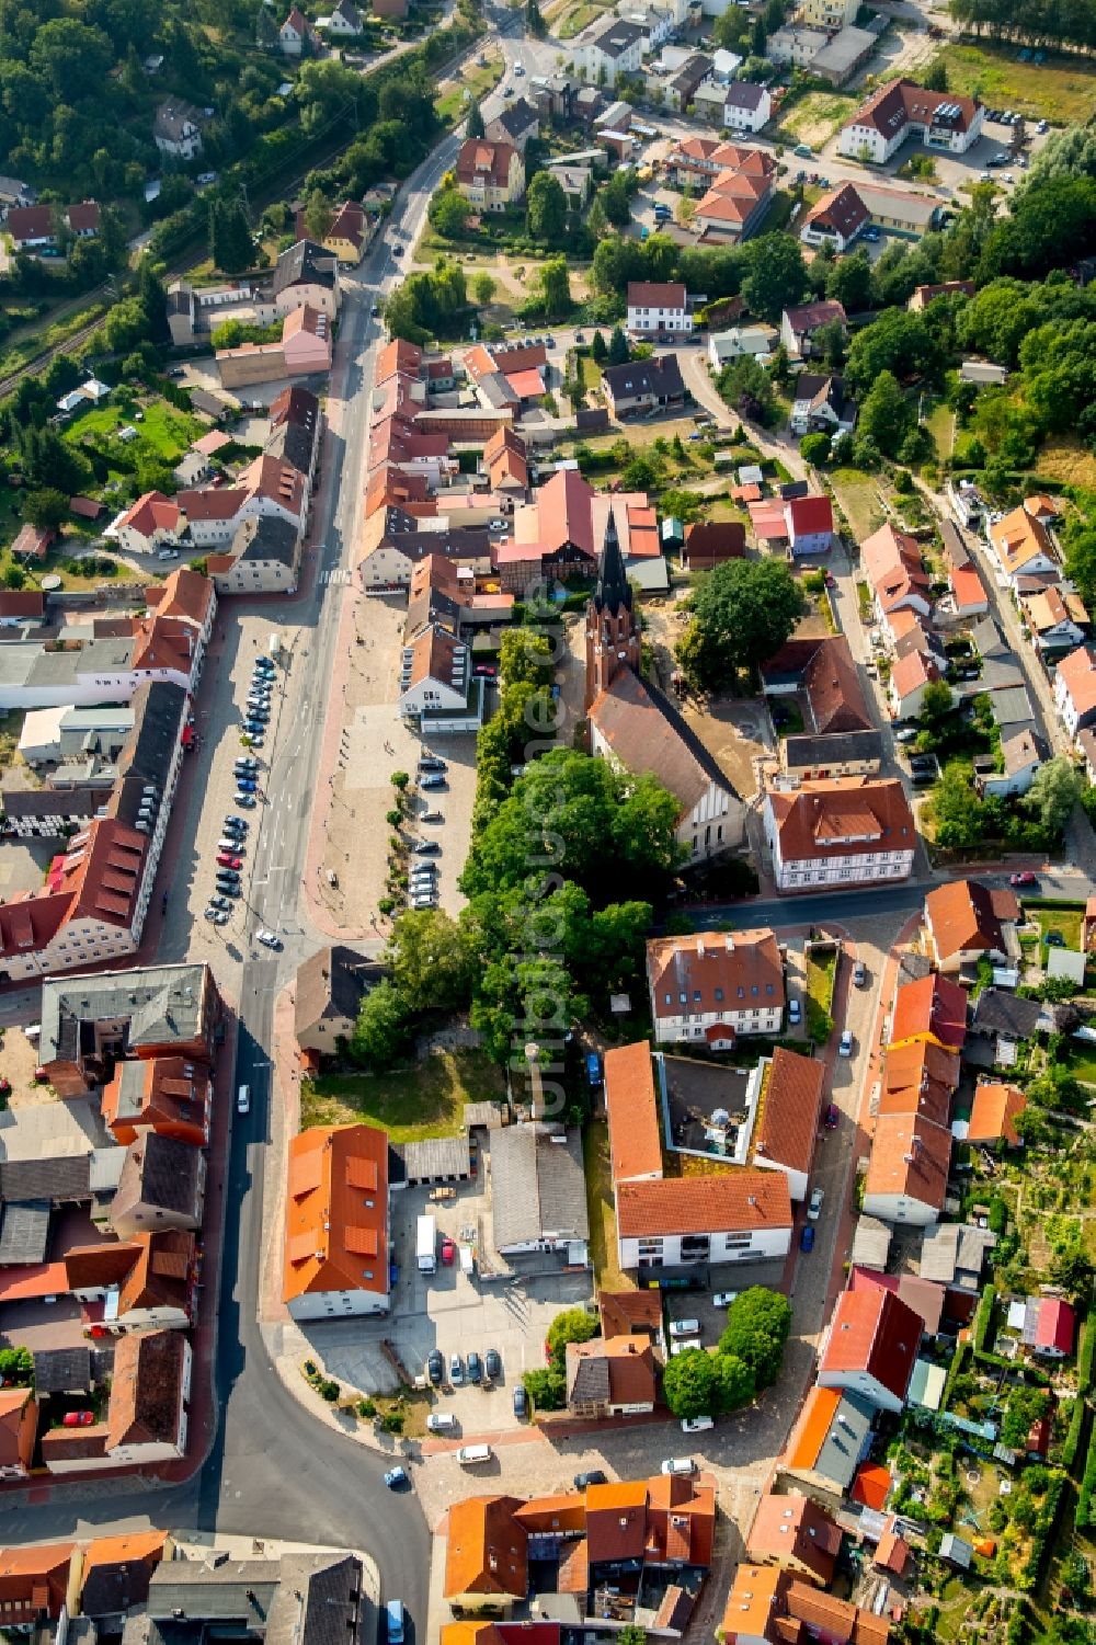
[[[620,1183],[617,1224],[622,1239],[665,1234],[734,1234],[792,1229],[788,1179],[782,1171],[727,1171],[724,1176],[675,1176],[658,1183]]]

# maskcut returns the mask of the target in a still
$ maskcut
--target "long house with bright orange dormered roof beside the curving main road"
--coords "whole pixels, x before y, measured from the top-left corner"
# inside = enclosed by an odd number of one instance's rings
[[[326,1125],[290,1142],[281,1300],[293,1319],[388,1309],[388,1138]]]

